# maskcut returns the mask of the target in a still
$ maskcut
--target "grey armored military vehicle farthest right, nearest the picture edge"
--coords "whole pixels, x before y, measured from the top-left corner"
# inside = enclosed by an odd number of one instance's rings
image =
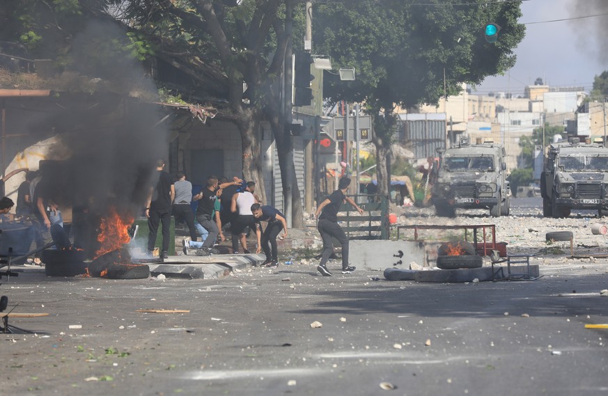
[[[579,138],[549,145],[540,174],[543,216],[568,217],[571,209],[608,214],[608,148]]]

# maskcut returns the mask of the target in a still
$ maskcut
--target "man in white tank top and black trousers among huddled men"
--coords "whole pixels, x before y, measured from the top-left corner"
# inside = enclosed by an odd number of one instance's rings
[[[258,240],[256,253],[260,253],[260,251],[262,251],[262,233],[256,224],[254,214],[251,212],[251,205],[256,203],[256,197],[252,193],[255,185],[255,182],[248,182],[247,189],[245,191],[235,193],[235,195],[232,197],[231,211],[233,213],[238,213],[238,216],[233,221],[230,229],[232,235],[232,249],[235,254],[238,254],[239,239],[241,241],[241,245],[243,246],[243,252],[249,253],[247,250],[247,227],[256,231],[256,239]]]

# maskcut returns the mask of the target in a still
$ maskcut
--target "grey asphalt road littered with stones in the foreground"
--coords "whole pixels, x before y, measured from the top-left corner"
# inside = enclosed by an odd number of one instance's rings
[[[324,278],[314,264],[220,280],[23,271],[1,294],[49,316],[0,335],[2,395],[608,393],[608,330],[584,327],[608,323],[607,261],[468,284]],[[189,313],[137,312],[152,308]]]

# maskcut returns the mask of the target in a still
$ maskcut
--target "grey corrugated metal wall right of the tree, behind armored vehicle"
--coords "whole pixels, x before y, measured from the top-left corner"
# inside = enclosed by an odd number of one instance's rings
[[[446,123],[442,120],[403,120],[401,125],[399,141],[416,159],[437,157],[437,148],[446,147]]]

